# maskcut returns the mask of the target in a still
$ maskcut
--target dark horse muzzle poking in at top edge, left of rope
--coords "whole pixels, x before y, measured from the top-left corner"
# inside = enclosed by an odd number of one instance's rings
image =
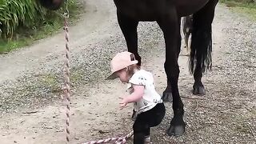
[[[64,0],[39,0],[40,4],[48,10],[58,10]]]

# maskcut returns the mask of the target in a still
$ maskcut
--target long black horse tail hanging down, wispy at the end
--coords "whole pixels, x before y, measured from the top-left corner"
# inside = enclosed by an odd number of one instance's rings
[[[207,14],[199,10],[193,14],[193,28],[190,46],[190,73],[194,74],[196,69],[202,73],[211,70],[212,59],[212,33],[211,22],[207,21]]]

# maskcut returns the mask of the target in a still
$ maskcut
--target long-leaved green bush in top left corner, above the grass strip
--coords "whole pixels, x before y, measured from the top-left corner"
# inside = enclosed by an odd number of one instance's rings
[[[69,1],[74,6],[74,0]],[[2,39],[11,40],[18,31],[30,33],[56,21],[62,20],[57,12],[44,9],[37,0],[0,0],[0,34]]]

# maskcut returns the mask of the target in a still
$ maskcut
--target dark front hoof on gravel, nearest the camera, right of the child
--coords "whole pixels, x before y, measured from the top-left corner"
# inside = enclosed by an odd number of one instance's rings
[[[180,121],[174,121],[174,119],[170,122],[170,127],[167,130],[167,134],[169,136],[181,136],[182,134],[185,133],[185,122],[183,121],[183,119],[180,119]]]

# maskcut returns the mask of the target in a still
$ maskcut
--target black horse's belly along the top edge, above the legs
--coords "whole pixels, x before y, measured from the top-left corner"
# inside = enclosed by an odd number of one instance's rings
[[[211,0],[114,0],[122,14],[140,21],[154,21],[174,8],[179,16],[194,14]]]

